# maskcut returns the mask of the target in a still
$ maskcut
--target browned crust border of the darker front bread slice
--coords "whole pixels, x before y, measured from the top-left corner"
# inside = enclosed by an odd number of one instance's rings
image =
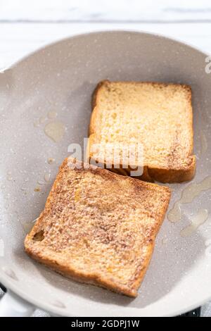
[[[62,275],[65,275],[67,277],[70,277],[72,280],[77,280],[78,282],[84,282],[92,285],[98,285],[100,287],[105,287],[107,289],[112,290],[113,292],[118,292],[121,294],[125,294],[127,296],[135,297],[137,295],[137,290],[143,280],[143,277],[146,273],[146,270],[148,268],[148,264],[151,261],[151,255],[153,253],[153,247],[155,244],[155,237],[158,234],[158,230],[160,229],[160,225],[162,224],[162,220],[165,217],[165,213],[167,211],[167,206],[169,204],[170,200],[170,189],[167,187],[160,187],[158,185],[149,184],[147,182],[141,182],[140,180],[134,180],[130,177],[122,177],[121,175],[116,175],[115,173],[111,173],[108,170],[103,170],[101,168],[93,167],[91,166],[90,169],[75,169],[70,170],[68,168],[68,164],[82,164],[79,163],[79,161],[72,160],[70,158],[66,158],[63,164],[60,166],[60,171],[56,177],[56,181],[53,184],[53,187],[51,189],[51,192],[49,194],[49,197],[46,201],[46,206],[44,208],[44,211],[39,216],[39,219],[37,220],[36,224],[34,225],[32,231],[29,235],[25,238],[25,251],[27,254],[29,254],[32,258],[39,261],[40,263],[44,263],[44,265],[49,266],[51,269],[56,270],[56,272],[61,273]],[[81,173],[88,172],[93,174],[93,176],[97,176],[98,180],[101,178],[103,180],[106,180],[106,182],[110,183],[110,185],[115,185],[116,182],[125,182],[126,192],[127,187],[132,190],[131,192],[134,192],[136,196],[140,195],[140,198],[143,194],[143,192],[146,193],[145,196],[148,196],[148,194],[153,194],[156,199],[160,196],[159,200],[159,212],[156,211],[156,213],[152,213],[152,216],[154,218],[154,221],[152,223],[152,226],[148,228],[145,236],[146,238],[146,246],[144,250],[143,257],[136,256],[136,272],[131,275],[130,280],[127,283],[121,283],[115,278],[115,273],[113,274],[113,277],[108,277],[107,274],[103,273],[100,269],[97,268],[94,272],[90,272],[89,270],[86,270],[86,267],[84,266],[83,270],[77,269],[72,264],[72,258],[71,254],[66,254],[65,250],[60,249],[59,246],[54,245],[53,242],[50,242],[43,244],[43,242],[37,242],[34,240],[34,237],[39,232],[46,232],[46,236],[48,235],[48,232],[46,230],[46,219],[48,219],[52,214],[52,211],[58,209],[58,206],[60,206],[60,213],[63,213],[63,206],[65,207],[65,203],[58,204],[56,202],[56,192],[58,192],[58,187],[60,189],[63,189],[63,180],[66,175],[70,175],[69,172],[74,171],[80,176]],[[66,189],[66,187],[65,187]],[[103,189],[102,189],[103,194]],[[124,192],[122,192],[124,194]],[[57,197],[58,201],[60,201],[59,196]],[[147,199],[147,198],[146,198]],[[151,200],[149,199],[149,204]],[[57,205],[58,204],[58,205]],[[151,207],[148,207],[149,210]],[[157,207],[156,207],[157,208]],[[153,211],[153,209],[152,209]],[[60,213],[58,213],[58,217]],[[70,211],[71,213],[71,211]],[[66,216],[65,216],[66,217]],[[60,221],[62,219],[60,218]],[[77,220],[75,220],[77,222]],[[67,227],[68,230],[68,227]],[[72,231],[72,230],[71,230]],[[42,235],[43,235],[42,233]],[[53,240],[53,239],[52,239]],[[109,244],[109,242],[108,242]],[[68,249],[68,245],[65,246]],[[141,254],[141,253],[140,253]],[[110,259],[110,256],[108,256],[108,261]],[[127,266],[127,260],[125,261]],[[124,275],[124,271],[123,271]]]

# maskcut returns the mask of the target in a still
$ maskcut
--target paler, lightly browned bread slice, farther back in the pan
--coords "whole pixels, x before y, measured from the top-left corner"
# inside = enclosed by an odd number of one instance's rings
[[[105,80],[96,87],[92,106],[89,159],[104,165],[111,162],[111,170],[129,175],[130,168],[122,163],[115,168],[113,157],[103,152],[105,146],[142,144],[143,175],[139,178],[159,182],[184,182],[193,178],[196,156],[192,155],[191,87]],[[96,144],[99,147],[93,153],[91,149]],[[141,163],[138,156],[135,163]]]

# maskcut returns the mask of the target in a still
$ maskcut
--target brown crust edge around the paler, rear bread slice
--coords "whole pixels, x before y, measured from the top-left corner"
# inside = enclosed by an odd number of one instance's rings
[[[114,82],[115,83],[115,82]],[[141,84],[139,82],[121,82],[121,83],[128,83],[128,84]],[[101,95],[101,89],[104,85],[109,85],[109,80],[103,80],[102,82],[99,82],[96,86],[96,89],[94,90],[94,93],[92,95],[91,105],[92,105],[92,113],[91,113],[91,120],[89,125],[89,146],[92,144],[100,142],[101,137],[99,136],[99,130],[98,128],[101,126],[101,123],[98,118],[98,105],[100,104],[100,95]],[[189,113],[191,114],[191,119],[189,120],[188,125],[191,127],[191,137],[190,137],[190,149],[188,151],[188,157],[186,159],[186,163],[177,164],[174,160],[174,146],[172,146],[172,153],[169,156],[169,160],[167,162],[167,165],[165,167],[163,166],[156,166],[150,165],[148,163],[143,164],[143,175],[139,176],[139,179],[146,180],[149,182],[153,182],[154,180],[158,182],[186,182],[188,180],[191,180],[195,173],[196,173],[196,156],[192,155],[193,153],[193,111],[191,107],[191,87],[188,85],[182,85],[182,84],[174,84],[174,83],[160,83],[160,82],[144,82],[145,85],[153,85],[153,86],[160,86],[160,87],[182,87],[187,92],[187,98],[188,98],[188,107],[189,107]],[[144,143],[143,143],[144,144]],[[87,149],[88,151],[88,149]],[[87,162],[90,161],[90,159],[93,156],[87,152]],[[101,161],[100,161],[101,162]],[[101,162],[102,163],[102,162]],[[104,164],[104,168],[106,168],[106,164]],[[114,168],[114,167],[113,167]],[[120,169],[110,169],[111,171],[114,171],[115,173],[120,173],[121,175],[130,175],[130,170],[123,168],[122,164],[120,164]]]

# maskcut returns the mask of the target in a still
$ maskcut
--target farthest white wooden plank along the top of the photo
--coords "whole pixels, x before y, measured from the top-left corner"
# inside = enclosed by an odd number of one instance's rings
[[[211,20],[210,0],[1,0],[0,20],[196,21]]]

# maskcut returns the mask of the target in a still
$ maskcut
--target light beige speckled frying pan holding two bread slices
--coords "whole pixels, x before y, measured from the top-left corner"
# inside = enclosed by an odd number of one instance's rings
[[[1,315],[26,316],[37,306],[59,316],[175,316],[211,299],[209,183],[181,205],[179,222],[165,218],[136,299],[72,282],[32,261],[23,249],[68,145],[87,137],[91,93],[100,80],[191,85],[197,156],[192,182],[210,174],[211,75],[205,58],[191,46],[157,35],[96,32],[46,46],[0,73],[0,280],[8,289]],[[52,112],[57,118],[48,115]],[[56,120],[65,127],[59,142],[44,132]],[[49,158],[55,162],[49,164]],[[169,210],[188,185],[170,185]],[[207,220],[181,236],[202,209]]]

